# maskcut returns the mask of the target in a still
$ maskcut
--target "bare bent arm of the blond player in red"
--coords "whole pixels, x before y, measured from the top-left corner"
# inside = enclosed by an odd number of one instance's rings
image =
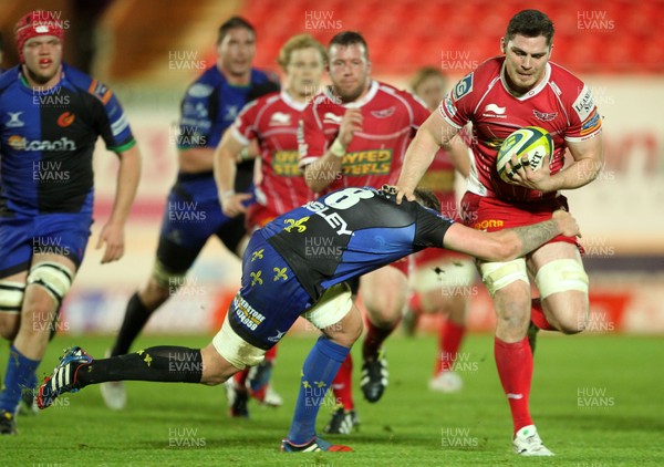
[[[224,214],[229,217],[246,212],[247,208],[242,205],[242,201],[251,198],[248,193],[235,193],[236,162],[240,158],[240,154],[247,145],[238,141],[232,132],[232,126],[224,132],[224,136],[221,136],[221,141],[215,149],[214,157],[219,203]]]

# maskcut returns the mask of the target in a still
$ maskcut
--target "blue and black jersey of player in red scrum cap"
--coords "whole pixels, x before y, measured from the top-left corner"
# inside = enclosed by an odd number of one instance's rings
[[[63,63],[50,90],[29,87],[20,66],[0,76],[0,216],[92,215],[92,154],[136,144],[117,98],[104,84]]]

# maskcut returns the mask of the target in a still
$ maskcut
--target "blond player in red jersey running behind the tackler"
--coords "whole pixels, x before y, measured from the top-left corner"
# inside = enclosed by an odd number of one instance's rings
[[[326,61],[323,45],[309,34],[289,39],[279,53],[287,86],[245,106],[236,123],[224,134],[215,154],[215,172],[221,194],[221,209],[228,217],[246,215],[247,231],[263,227],[276,217],[313,199],[298,167],[298,125],[309,100],[318,92]],[[256,181],[256,203],[246,207],[249,194],[236,193],[236,163],[251,141],[260,145],[260,174]],[[229,380],[231,415],[248,415],[248,392],[271,403],[273,394],[267,382],[277,345],[266,354],[266,362],[237,373]],[[261,374],[253,374],[260,372]],[[247,387],[247,377],[251,385]],[[249,390],[249,391],[247,391]]]

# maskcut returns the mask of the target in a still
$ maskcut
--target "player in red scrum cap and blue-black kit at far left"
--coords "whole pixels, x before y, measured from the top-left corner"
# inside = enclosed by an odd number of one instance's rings
[[[92,154],[98,136],[120,168],[102,263],[124,255],[124,228],[141,177],[126,115],[104,84],[62,62],[64,29],[51,11],[15,25],[21,63],[0,79],[0,333],[10,347],[0,394],[0,434],[14,434],[23,390],[54,333],[83,261],[93,210]]]

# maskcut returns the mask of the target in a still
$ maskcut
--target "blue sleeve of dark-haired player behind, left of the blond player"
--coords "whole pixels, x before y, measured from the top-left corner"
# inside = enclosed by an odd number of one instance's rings
[[[197,82],[189,86],[180,105],[178,149],[217,147],[222,128],[215,128],[216,96],[215,87],[209,84]]]

